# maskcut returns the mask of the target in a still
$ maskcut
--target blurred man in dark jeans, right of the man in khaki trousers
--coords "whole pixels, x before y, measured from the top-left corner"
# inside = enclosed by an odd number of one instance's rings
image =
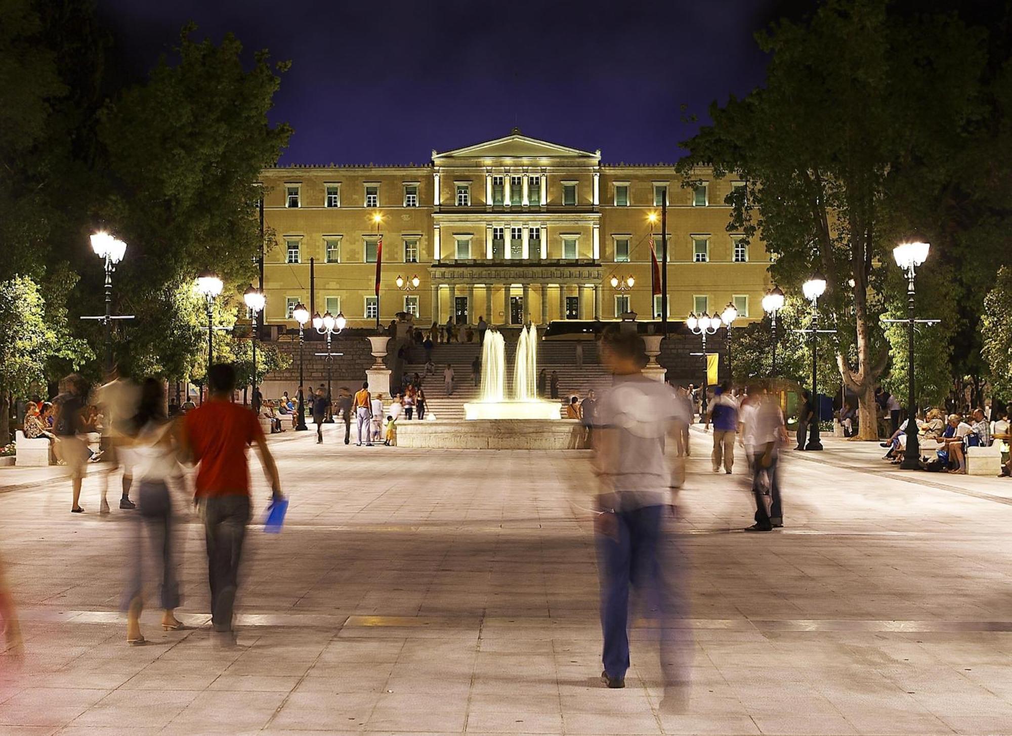
[[[755,443],[755,457],[752,460],[754,471],[752,493],[756,500],[756,523],[747,527],[745,531],[769,532],[774,527],[783,526],[777,465],[779,447],[786,441],[787,431],[783,426],[783,413],[780,411],[776,395],[767,393],[765,387],[758,390],[756,411],[751,422],[752,438]]]

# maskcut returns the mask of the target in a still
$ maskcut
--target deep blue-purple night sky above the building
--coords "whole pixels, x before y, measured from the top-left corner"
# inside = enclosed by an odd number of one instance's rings
[[[273,120],[282,163],[407,164],[525,134],[601,149],[605,162],[673,162],[683,104],[762,83],[753,34],[797,0],[97,0],[130,75],[187,20],[292,62]],[[804,3],[802,3],[804,4]]]

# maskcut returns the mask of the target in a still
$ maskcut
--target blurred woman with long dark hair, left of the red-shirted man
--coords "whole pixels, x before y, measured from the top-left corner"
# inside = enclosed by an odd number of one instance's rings
[[[179,584],[176,581],[172,544],[172,503],[168,481],[182,477],[177,462],[177,443],[172,424],[165,416],[165,390],[161,381],[147,379],[141,387],[141,401],[132,423],[132,454],[134,457],[134,487],[138,494],[138,516],[141,523],[134,555],[134,566],[128,584],[126,642],[145,644],[141,634],[141,612],[144,610],[145,561],[159,558],[161,562],[160,590],[162,628],[176,631],[186,628],[173,611],[179,606]],[[153,565],[156,569],[157,564]]]

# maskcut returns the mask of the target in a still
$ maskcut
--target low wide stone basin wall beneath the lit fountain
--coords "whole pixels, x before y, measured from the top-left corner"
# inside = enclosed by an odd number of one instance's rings
[[[436,420],[399,422],[399,447],[452,450],[582,450],[587,431],[576,420]]]

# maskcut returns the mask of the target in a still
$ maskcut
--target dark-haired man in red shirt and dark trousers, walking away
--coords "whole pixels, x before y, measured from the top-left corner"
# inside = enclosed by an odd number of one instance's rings
[[[210,581],[212,622],[216,632],[232,636],[232,611],[239,577],[239,558],[250,520],[250,475],[246,449],[255,444],[270,480],[274,500],[281,482],[274,458],[256,415],[232,402],[236,370],[213,365],[207,371],[206,403],[183,420],[182,446],[196,473],[196,498],[204,507],[207,540],[207,577]]]

